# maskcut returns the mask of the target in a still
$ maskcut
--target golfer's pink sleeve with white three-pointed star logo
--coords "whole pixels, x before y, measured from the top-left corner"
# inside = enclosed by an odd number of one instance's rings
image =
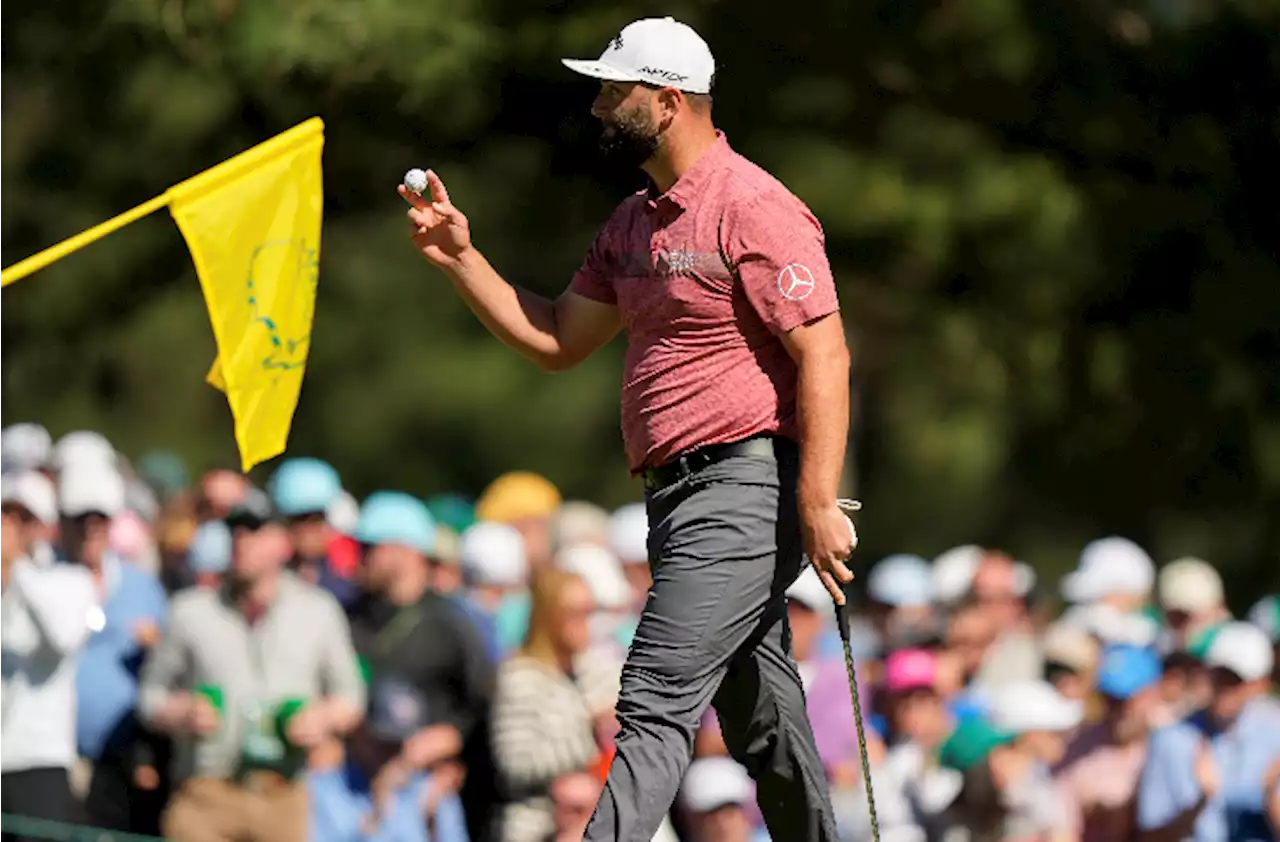
[[[790,193],[764,193],[732,209],[723,242],[744,294],[773,333],[840,310],[822,225]]]

